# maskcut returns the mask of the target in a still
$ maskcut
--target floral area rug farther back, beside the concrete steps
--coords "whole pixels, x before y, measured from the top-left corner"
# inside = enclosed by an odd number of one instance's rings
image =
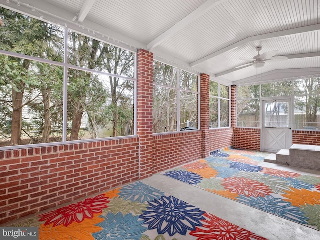
[[[226,148],[162,174],[320,230],[320,177],[259,166],[268,154]]]

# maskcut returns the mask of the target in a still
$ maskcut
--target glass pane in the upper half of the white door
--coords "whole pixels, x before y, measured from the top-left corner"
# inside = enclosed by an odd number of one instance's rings
[[[265,127],[289,127],[289,104],[287,101],[264,102]]]

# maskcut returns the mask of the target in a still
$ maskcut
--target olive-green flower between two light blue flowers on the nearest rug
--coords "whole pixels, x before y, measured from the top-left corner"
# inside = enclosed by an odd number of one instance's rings
[[[148,203],[140,203],[138,201],[124,200],[123,198],[113,198],[110,200],[109,207],[103,209],[103,213],[112,212],[116,214],[122,212],[123,215],[132,213],[133,215],[141,215],[143,210],[147,209]]]

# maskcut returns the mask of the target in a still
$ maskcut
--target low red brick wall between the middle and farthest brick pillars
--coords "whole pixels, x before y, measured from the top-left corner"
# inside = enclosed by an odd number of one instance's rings
[[[223,149],[225,147],[229,147],[232,145],[233,145],[233,129],[232,128],[210,129],[209,151]]]

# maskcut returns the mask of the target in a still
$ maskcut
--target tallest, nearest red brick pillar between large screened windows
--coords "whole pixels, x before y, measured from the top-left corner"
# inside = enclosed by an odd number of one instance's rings
[[[139,137],[139,178],[152,175],[153,53],[137,54],[137,136]]]

